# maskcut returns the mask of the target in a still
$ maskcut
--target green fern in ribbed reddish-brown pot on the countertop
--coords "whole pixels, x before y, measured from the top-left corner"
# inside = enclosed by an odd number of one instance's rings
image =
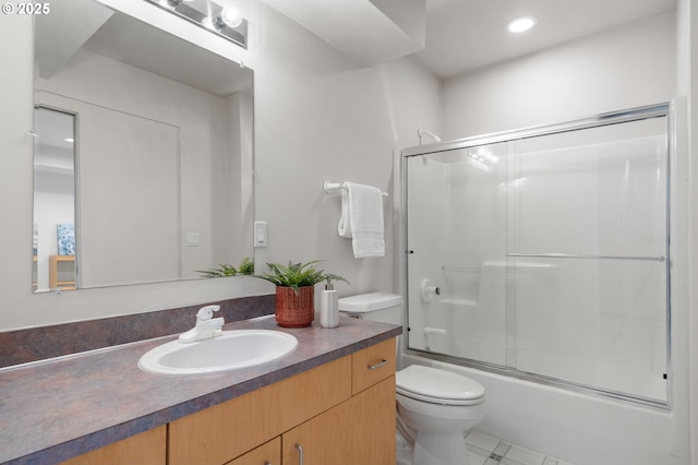
[[[341,276],[318,270],[320,260],[308,263],[267,263],[268,273],[256,275],[276,285],[276,323],[282,327],[310,326],[315,319],[315,285]]]

